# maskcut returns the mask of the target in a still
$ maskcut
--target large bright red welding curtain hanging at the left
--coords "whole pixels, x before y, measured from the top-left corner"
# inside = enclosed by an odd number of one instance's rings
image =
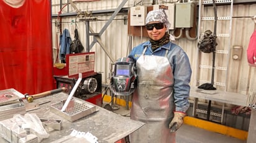
[[[0,1],[0,90],[32,95],[53,89],[50,9],[47,0]]]

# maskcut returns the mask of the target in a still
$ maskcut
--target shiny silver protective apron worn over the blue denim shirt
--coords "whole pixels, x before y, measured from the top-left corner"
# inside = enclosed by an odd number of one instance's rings
[[[147,48],[145,48],[146,50]],[[145,123],[130,134],[132,143],[175,143],[168,128],[173,118],[173,74],[165,56],[144,55],[137,59],[138,86],[132,98],[130,118]]]

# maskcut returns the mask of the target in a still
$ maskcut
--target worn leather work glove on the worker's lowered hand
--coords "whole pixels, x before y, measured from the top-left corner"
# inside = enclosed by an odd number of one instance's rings
[[[171,129],[171,133],[176,132],[181,125],[183,124],[183,118],[186,116],[186,113],[183,112],[174,112],[174,117],[169,124],[169,128]]]

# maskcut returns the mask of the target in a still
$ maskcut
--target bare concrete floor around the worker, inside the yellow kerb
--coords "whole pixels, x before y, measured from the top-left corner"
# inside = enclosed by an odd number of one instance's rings
[[[130,118],[130,111],[124,106],[113,106],[113,112]],[[205,129],[196,128],[188,124],[183,124],[176,133],[176,143],[246,143],[240,139],[229,137],[216,132],[207,131]]]

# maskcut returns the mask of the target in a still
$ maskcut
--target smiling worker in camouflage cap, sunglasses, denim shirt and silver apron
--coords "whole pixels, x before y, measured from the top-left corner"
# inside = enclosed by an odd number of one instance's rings
[[[130,116],[145,123],[130,134],[133,143],[175,142],[175,131],[190,105],[190,61],[180,46],[171,43],[169,25],[163,9],[150,11],[145,25],[150,40],[129,54],[138,76]]]

